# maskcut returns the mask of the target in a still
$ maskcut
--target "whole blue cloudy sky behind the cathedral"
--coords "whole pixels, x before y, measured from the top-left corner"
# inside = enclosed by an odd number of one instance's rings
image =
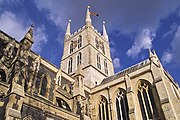
[[[32,50],[59,68],[67,22],[71,33],[84,26],[88,5],[100,33],[106,21],[115,72],[154,49],[180,83],[180,0],[0,0],[0,30],[20,41],[33,23]]]

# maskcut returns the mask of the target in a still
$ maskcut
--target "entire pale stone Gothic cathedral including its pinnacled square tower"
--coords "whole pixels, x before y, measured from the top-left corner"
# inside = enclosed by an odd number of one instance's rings
[[[0,120],[180,120],[180,88],[157,54],[114,73],[105,22],[64,36],[60,68],[0,31]],[[18,33],[17,33],[18,34]]]

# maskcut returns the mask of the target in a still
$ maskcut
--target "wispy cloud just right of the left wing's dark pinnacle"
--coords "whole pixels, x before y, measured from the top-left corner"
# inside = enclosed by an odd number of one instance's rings
[[[47,35],[45,33],[45,27],[41,26],[34,30],[34,44],[32,46],[32,50],[40,53],[43,46],[46,44]]]

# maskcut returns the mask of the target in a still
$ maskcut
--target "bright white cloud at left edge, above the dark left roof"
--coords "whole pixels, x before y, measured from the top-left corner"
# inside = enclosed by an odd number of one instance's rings
[[[21,40],[28,29],[23,25],[21,19],[18,19],[14,13],[9,11],[0,15],[0,23],[0,29],[17,40]]]

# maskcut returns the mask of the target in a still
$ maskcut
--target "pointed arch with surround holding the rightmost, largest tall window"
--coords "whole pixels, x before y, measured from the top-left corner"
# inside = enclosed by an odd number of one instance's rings
[[[147,80],[140,79],[136,88],[142,119],[159,118],[158,105],[160,104],[157,104],[156,92],[152,84]]]

